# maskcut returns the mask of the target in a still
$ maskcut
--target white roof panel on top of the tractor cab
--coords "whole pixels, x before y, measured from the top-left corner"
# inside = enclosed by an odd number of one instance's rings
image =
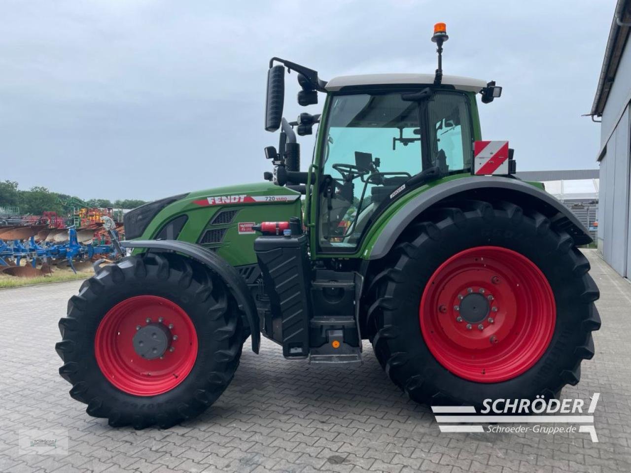
[[[432,85],[434,74],[360,74],[358,76],[335,77],[326,83],[327,92],[344,87],[370,85]],[[442,76],[443,85],[452,85],[457,90],[479,92],[487,86],[482,79],[461,76]]]

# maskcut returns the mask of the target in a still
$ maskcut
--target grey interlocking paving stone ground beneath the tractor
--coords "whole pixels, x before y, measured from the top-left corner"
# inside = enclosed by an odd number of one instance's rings
[[[600,393],[589,435],[440,433],[365,344],[357,368],[286,361],[264,339],[244,349],[232,384],[203,416],[168,430],[112,429],[68,395],[57,374],[57,320],[80,283],[0,291],[0,472],[629,472],[631,284],[593,250],[603,327],[581,383]],[[18,455],[20,429],[66,429],[68,455]]]

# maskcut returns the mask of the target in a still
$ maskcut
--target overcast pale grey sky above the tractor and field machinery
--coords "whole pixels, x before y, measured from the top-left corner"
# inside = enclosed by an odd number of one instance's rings
[[[269,57],[344,74],[495,79],[483,137],[517,170],[594,168],[589,112],[615,1],[0,1],[0,179],[157,199],[255,182]],[[295,75],[285,115],[295,119]],[[321,100],[322,102],[322,100]],[[319,106],[308,107],[312,113]],[[305,137],[306,138],[306,137]],[[303,167],[312,139],[302,139]]]

